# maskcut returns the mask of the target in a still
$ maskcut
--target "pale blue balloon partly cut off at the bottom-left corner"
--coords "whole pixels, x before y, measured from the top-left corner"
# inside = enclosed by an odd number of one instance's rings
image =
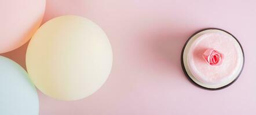
[[[0,114],[38,115],[35,86],[27,72],[13,60],[0,56]]]

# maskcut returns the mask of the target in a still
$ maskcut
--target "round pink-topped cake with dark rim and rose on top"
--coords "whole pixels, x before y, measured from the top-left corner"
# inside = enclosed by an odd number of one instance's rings
[[[181,63],[186,76],[196,85],[221,89],[239,77],[244,53],[231,33],[210,28],[189,38],[182,50]]]

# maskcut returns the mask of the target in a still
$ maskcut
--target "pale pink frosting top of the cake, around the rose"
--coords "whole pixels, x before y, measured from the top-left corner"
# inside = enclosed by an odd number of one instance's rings
[[[203,53],[209,49],[215,49],[225,58],[218,66],[209,65],[203,58]],[[202,83],[223,83],[232,78],[239,70],[239,62],[242,55],[237,41],[224,33],[205,33],[199,36],[188,52],[188,67],[192,75]]]

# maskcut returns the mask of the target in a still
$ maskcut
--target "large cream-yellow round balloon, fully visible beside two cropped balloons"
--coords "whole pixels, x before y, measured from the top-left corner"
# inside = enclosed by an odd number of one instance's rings
[[[26,54],[32,82],[46,95],[65,101],[97,91],[112,67],[112,49],[104,31],[78,16],[47,21],[32,37]]]

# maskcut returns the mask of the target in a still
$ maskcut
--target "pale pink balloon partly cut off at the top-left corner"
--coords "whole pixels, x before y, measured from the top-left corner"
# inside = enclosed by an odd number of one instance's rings
[[[0,53],[26,43],[41,24],[45,0],[0,0]]]

